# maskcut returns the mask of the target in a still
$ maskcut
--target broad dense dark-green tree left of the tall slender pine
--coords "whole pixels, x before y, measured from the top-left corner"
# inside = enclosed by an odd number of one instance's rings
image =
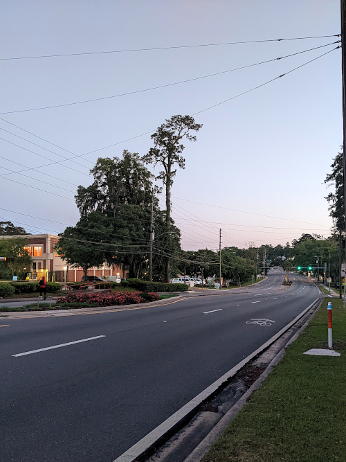
[[[66,263],[83,267],[85,274],[88,267],[108,263],[128,270],[130,278],[143,276],[149,261],[153,202],[153,269],[160,280],[163,259],[180,251],[180,232],[172,220],[170,232],[163,229],[165,216],[152,194],[154,175],[138,154],[127,150],[121,159],[99,158],[91,175],[93,184],[79,186],[75,196],[80,220],[60,234],[57,251]]]

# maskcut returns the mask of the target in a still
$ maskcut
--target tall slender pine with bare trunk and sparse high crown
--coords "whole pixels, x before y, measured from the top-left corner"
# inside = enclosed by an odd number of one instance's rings
[[[145,163],[151,163],[154,167],[157,164],[163,167],[156,179],[161,179],[165,185],[167,233],[170,231],[171,188],[176,175],[174,166],[185,168],[185,159],[180,155],[185,147],[181,141],[184,138],[189,141],[196,141],[196,136],[190,132],[199,132],[201,127],[202,125],[195,123],[191,116],[178,115],[166,119],[166,122],[152,134],[154,148],[150,148],[149,152],[142,158]],[[166,261],[165,278],[166,282],[170,281],[170,258],[167,258]]]

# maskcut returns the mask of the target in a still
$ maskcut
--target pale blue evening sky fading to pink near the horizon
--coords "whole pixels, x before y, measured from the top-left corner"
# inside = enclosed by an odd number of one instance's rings
[[[277,39],[337,35],[339,10],[337,0],[0,1],[0,220],[64,231],[98,157],[144,155],[156,127],[188,114],[203,127],[184,142],[172,186],[183,249],[216,249],[220,228],[223,247],[329,236],[323,181],[343,140],[341,51],[275,58],[336,42]],[[3,59],[167,47],[184,48]]]

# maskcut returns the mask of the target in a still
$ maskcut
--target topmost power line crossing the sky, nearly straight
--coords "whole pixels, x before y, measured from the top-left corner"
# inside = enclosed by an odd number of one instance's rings
[[[84,53],[62,53],[60,55],[37,55],[37,56],[18,56],[18,57],[0,57],[1,61],[10,60],[33,60],[44,57],[63,57],[63,56],[82,56],[82,55],[102,55],[110,53],[131,53],[134,51],[155,51],[155,50],[173,50],[179,48],[198,48],[202,46],[221,46],[221,45],[238,45],[238,44],[255,44],[264,42],[284,42],[286,40],[304,40],[304,39],[322,39],[327,37],[340,37],[340,34],[336,35],[316,35],[314,37],[290,37],[286,39],[266,39],[266,40],[247,40],[246,42],[221,42],[215,44],[197,44],[197,45],[181,45],[181,46],[160,46],[153,48],[133,48],[129,50],[111,50],[111,51],[89,51]]]

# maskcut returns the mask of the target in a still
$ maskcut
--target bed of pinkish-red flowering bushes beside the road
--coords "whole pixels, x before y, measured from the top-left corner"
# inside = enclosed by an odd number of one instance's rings
[[[97,303],[99,306],[131,305],[133,303],[145,303],[158,300],[155,292],[95,292],[85,294],[82,292],[69,292],[64,297],[59,297],[57,303]]]

